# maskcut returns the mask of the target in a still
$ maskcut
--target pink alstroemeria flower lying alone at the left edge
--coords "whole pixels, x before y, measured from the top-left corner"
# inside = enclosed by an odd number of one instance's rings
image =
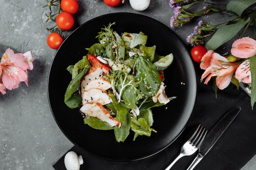
[[[29,53],[26,54],[29,59]],[[30,53],[31,55],[31,53]],[[31,57],[32,58],[32,57]],[[22,53],[14,53],[10,48],[7,49],[1,59],[2,84],[9,90],[18,88],[20,82],[28,82],[27,69],[29,66],[26,57]],[[27,84],[28,86],[28,84]]]

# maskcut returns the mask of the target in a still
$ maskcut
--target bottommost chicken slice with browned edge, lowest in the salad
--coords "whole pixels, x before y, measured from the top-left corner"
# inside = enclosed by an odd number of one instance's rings
[[[121,122],[112,117],[109,111],[97,102],[85,103],[80,111],[91,117],[98,117],[102,121],[106,121],[111,127],[121,126]]]

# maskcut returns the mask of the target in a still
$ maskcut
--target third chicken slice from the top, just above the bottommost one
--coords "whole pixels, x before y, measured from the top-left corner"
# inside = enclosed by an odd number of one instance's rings
[[[87,102],[98,102],[101,105],[105,105],[112,103],[112,99],[106,91],[99,88],[89,88],[88,91],[84,91],[82,102],[83,104]]]

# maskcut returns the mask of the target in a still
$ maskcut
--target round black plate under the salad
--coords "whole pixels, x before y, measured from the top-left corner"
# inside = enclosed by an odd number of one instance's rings
[[[168,104],[153,109],[151,137],[139,136],[132,141],[133,134],[124,142],[115,140],[113,130],[95,130],[83,122],[79,108],[70,109],[64,103],[64,94],[71,81],[67,66],[75,64],[87,55],[101,28],[112,26],[119,35],[124,32],[148,36],[146,46],[156,45],[159,55],[173,53],[174,61],[164,71],[166,94],[177,96]],[[72,143],[84,151],[105,159],[116,161],[137,160],[163,150],[182,132],[194,107],[196,97],[196,75],[193,63],[180,38],[161,22],[135,13],[111,13],[82,24],[71,33],[58,49],[52,62],[48,79],[48,97],[52,114]]]

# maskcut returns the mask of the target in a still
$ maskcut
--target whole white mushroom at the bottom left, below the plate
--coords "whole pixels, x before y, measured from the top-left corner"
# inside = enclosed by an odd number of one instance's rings
[[[65,167],[67,170],[79,170],[80,165],[83,164],[82,156],[77,156],[76,152],[67,152],[64,158]]]

